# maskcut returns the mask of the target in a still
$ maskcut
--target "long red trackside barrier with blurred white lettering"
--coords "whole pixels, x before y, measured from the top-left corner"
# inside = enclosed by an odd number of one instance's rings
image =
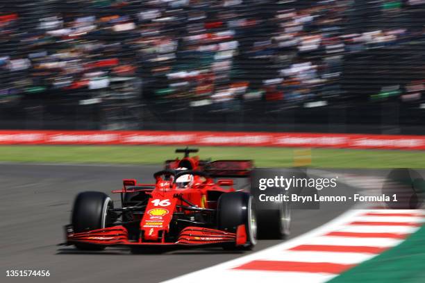
[[[0,130],[0,144],[182,144],[423,150],[425,136],[294,132]]]

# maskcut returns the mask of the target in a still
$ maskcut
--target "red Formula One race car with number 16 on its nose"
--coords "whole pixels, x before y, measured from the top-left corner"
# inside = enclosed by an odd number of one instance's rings
[[[159,171],[154,178],[155,184],[124,180],[124,187],[113,191],[121,194],[119,208],[102,192],[78,194],[72,224],[65,226],[66,244],[82,250],[256,244],[252,196],[236,191],[233,179],[214,181],[206,171],[173,169]]]

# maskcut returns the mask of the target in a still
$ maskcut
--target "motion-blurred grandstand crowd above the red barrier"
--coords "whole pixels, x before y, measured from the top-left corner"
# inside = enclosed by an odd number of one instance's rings
[[[424,0],[0,1],[0,128],[424,135]]]

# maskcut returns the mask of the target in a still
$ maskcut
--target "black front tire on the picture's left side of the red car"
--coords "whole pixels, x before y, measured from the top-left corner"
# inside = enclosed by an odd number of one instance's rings
[[[99,191],[85,191],[78,194],[72,209],[72,228],[74,232],[85,232],[106,228],[110,224],[108,209],[113,202],[107,194]],[[90,243],[75,243],[80,250],[103,250],[105,246]]]

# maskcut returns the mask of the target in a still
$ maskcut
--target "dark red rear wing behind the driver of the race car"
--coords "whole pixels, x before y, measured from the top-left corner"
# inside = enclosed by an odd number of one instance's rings
[[[211,177],[247,178],[253,169],[252,160],[217,160],[205,164]]]

